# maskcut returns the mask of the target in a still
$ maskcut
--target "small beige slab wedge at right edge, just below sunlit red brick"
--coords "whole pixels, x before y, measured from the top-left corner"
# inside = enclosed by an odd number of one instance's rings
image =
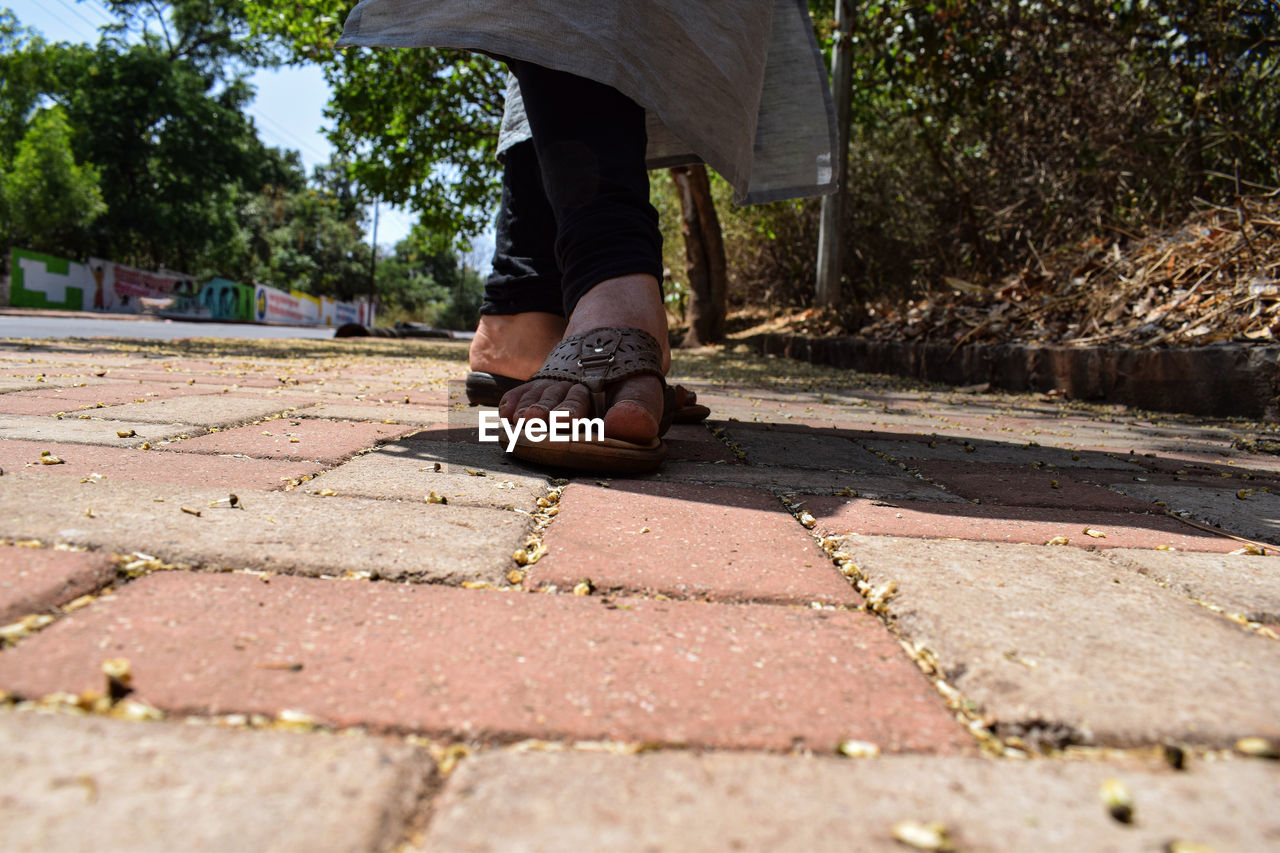
[[[1274,552],[1261,557],[1121,549],[1110,556],[1185,596],[1253,622],[1280,625],[1280,557]]]

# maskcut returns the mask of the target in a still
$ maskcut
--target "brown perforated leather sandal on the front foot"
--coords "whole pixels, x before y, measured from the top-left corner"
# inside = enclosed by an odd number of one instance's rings
[[[631,377],[658,377],[663,388],[663,416],[658,428],[662,435],[671,426],[675,392],[662,373],[662,347],[644,329],[602,328],[575,334],[561,341],[534,379],[557,379],[586,386],[591,396],[591,418],[604,418],[608,411],[607,388]],[[618,438],[595,441],[530,441],[521,435],[512,455],[517,459],[552,467],[567,467],[602,474],[640,474],[652,471],[667,459],[667,446],[660,438],[648,444]]]

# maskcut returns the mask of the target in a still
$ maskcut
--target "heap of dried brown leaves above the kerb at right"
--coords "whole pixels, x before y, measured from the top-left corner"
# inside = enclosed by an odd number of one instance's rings
[[[817,324],[817,325],[814,325]],[[820,318],[794,330],[831,332]],[[813,327],[813,328],[809,328]],[[1280,191],[1204,204],[1179,227],[1034,255],[1004,280],[948,278],[872,306],[860,337],[931,343],[1199,347],[1280,338]]]

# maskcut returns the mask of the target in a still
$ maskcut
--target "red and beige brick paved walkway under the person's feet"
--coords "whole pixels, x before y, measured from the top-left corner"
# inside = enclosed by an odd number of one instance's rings
[[[5,849],[1280,849],[1257,425],[684,353],[557,480],[463,371],[0,342]]]

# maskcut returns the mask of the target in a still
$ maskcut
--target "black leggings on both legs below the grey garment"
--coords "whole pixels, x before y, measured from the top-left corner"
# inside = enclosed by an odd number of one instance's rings
[[[568,316],[605,279],[644,273],[660,282],[644,109],[582,77],[507,64],[534,138],[506,152],[497,251],[480,313]]]

